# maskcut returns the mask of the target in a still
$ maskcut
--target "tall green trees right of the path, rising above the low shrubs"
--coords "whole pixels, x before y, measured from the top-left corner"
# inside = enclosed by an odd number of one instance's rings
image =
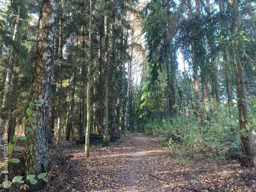
[[[246,127],[246,97],[253,97],[246,86],[253,79],[251,72],[256,72],[255,67],[249,67],[255,64],[255,54],[250,51],[255,47],[254,27],[247,24],[251,19],[255,21],[251,8],[244,1],[229,4],[226,1],[154,0],[147,4],[143,22],[148,47],[144,65],[147,73],[142,73],[138,88],[138,124],[163,117],[170,117],[170,122],[174,122],[177,115],[187,116],[189,110],[196,109],[197,131],[203,142],[204,132],[212,126],[211,117],[216,110],[211,103],[215,102],[217,108],[225,103],[231,107],[237,100],[243,154],[241,164],[253,164],[251,133],[248,125]],[[246,45],[245,41],[250,43]],[[187,65],[184,64],[183,71],[176,68],[178,54],[182,55],[183,61],[180,62]],[[250,71],[246,71],[248,67]],[[194,90],[191,89],[192,82]],[[237,85],[236,89],[234,85]],[[255,90],[255,83],[251,86],[250,90]],[[177,110],[176,115],[173,109]]]

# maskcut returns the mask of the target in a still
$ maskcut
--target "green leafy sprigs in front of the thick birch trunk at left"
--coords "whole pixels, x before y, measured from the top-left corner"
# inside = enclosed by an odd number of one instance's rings
[[[34,106],[40,106],[40,103],[39,103],[38,100],[36,100],[35,103],[33,103],[33,102],[30,102],[30,103],[29,103],[29,107],[28,107],[28,109],[26,110],[27,115],[28,115],[29,117],[28,117],[28,118],[24,117],[24,118],[22,119],[22,123],[23,123],[23,124],[26,124],[27,122],[29,122],[30,124],[31,124],[31,123],[36,123],[35,118],[33,118],[33,117],[31,116],[31,114],[32,114],[32,115],[37,115],[37,114],[38,114],[37,111],[34,111],[34,110],[33,110]],[[27,131],[31,131],[31,132],[33,131],[31,127],[25,127],[25,129],[26,129]],[[26,180],[29,180],[29,182],[30,182],[31,184],[36,184],[36,183],[37,183],[37,179],[42,179],[42,180],[44,180],[45,182],[48,182],[47,174],[46,174],[46,173],[41,173],[41,174],[39,174],[39,175],[37,176],[37,178],[36,178],[35,175],[28,175],[28,176],[26,177],[26,179],[23,179],[23,178],[24,178],[23,176],[18,175],[18,176],[15,176],[11,181],[8,180],[8,175],[7,175],[7,174],[8,174],[8,167],[7,167],[7,166],[8,166],[8,163],[9,163],[9,162],[11,162],[11,163],[19,163],[19,162],[20,162],[19,159],[11,158],[11,156],[12,156],[12,154],[13,154],[13,150],[14,150],[14,151],[22,151],[22,150],[23,150],[22,147],[16,146],[16,143],[17,143],[17,140],[18,140],[18,139],[20,139],[20,140],[26,140],[27,137],[26,137],[26,136],[17,136],[17,135],[14,135],[14,136],[13,136],[13,142],[14,142],[13,144],[7,143],[7,140],[6,140],[6,141],[4,140],[4,142],[3,142],[4,145],[2,145],[2,144],[0,145],[0,147],[3,147],[3,148],[4,148],[4,151],[5,151],[5,162],[3,162],[3,163],[1,164],[1,166],[4,167],[4,168],[3,168],[3,171],[0,173],[0,176],[1,176],[2,174],[6,174],[6,175],[5,175],[5,180],[3,181],[2,184],[0,184],[0,187],[10,188],[12,183],[24,183]],[[3,138],[0,138],[0,140],[3,141]],[[8,157],[8,155],[9,155],[9,157]],[[26,190],[27,188],[29,188],[29,186],[28,186],[27,184],[22,184],[22,185],[20,186],[20,189]]]

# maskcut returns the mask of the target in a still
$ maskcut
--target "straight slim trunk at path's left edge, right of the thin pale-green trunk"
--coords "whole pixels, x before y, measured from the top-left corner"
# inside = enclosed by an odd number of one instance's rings
[[[104,127],[103,127],[103,141],[102,147],[109,146],[108,127],[109,127],[109,63],[108,63],[108,15],[106,12],[106,0],[104,1]]]

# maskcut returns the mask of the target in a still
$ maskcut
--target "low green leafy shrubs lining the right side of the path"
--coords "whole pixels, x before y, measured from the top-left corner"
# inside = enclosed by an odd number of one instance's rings
[[[148,135],[161,136],[161,144],[176,151],[184,152],[185,149],[190,152],[207,151],[212,157],[218,159],[226,158],[230,155],[230,151],[239,154],[240,134],[245,134],[245,130],[239,130],[238,119],[232,115],[238,113],[237,106],[223,104],[217,108],[214,102],[210,104],[211,121],[206,122],[205,127],[198,126],[196,111],[190,110],[189,114],[195,115],[186,116],[180,111],[179,115],[166,121],[155,119],[144,125],[144,131]],[[249,114],[256,113],[255,108],[253,110],[249,108],[249,111]],[[255,127],[255,122],[254,116],[254,118],[249,119],[248,124],[250,127]],[[255,130],[252,131],[255,134]],[[197,154],[200,157],[199,153]],[[202,154],[201,157],[203,157]]]

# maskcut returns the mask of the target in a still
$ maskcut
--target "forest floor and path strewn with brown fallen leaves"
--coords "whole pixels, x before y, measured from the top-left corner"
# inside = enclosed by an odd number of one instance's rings
[[[58,191],[256,191],[255,168],[237,161],[199,160],[159,147],[159,139],[136,133],[109,148],[66,148],[73,155],[74,171],[61,181]],[[57,186],[56,186],[57,187]],[[58,186],[59,188],[60,186]]]

